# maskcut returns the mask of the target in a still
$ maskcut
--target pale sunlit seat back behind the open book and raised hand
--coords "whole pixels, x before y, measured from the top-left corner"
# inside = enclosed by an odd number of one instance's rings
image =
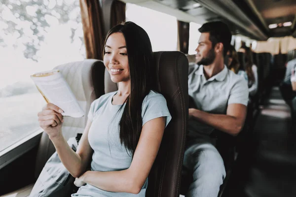
[[[59,69],[63,74],[79,105],[85,112],[85,115],[81,118],[64,117],[62,130],[66,140],[76,136],[77,133],[82,133],[85,128],[90,104],[96,99],[93,85],[94,80],[92,79],[92,76],[94,75],[93,72],[98,70],[94,69],[96,66],[104,66],[104,64],[99,60],[88,59],[56,66],[54,68]],[[36,178],[39,176],[46,161],[54,152],[54,145],[50,141],[48,135],[43,132],[37,150],[35,168]]]

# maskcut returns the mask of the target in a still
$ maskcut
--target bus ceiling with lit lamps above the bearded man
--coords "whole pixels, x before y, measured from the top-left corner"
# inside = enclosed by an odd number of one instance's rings
[[[296,0],[121,0],[203,24],[222,20],[251,39],[296,37]]]

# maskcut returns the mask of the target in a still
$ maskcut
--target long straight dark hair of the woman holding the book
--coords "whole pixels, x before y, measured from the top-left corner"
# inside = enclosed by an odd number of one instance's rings
[[[152,46],[145,30],[133,22],[114,26],[108,32],[104,46],[112,33],[122,33],[126,43],[131,92],[119,122],[119,137],[121,144],[134,155],[142,131],[142,103],[152,89]],[[105,54],[105,47],[103,51]]]

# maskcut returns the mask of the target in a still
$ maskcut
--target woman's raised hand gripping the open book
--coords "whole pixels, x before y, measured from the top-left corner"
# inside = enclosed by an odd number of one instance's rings
[[[62,134],[63,110],[58,106],[47,103],[38,113],[39,126],[53,138]]]

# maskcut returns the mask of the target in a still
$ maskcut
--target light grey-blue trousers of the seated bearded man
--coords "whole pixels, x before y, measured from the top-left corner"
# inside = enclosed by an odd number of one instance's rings
[[[211,139],[194,139],[185,147],[183,167],[193,171],[193,182],[185,197],[217,197],[226,172]]]

